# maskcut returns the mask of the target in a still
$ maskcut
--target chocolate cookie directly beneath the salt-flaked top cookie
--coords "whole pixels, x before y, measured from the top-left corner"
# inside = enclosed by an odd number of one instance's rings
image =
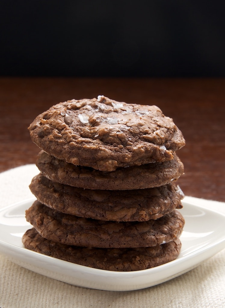
[[[47,178],[54,182],[106,190],[158,187],[178,179],[184,172],[183,164],[175,153],[174,159],[170,161],[117,168],[115,171],[106,172],[75,166],[41,151],[36,165]]]

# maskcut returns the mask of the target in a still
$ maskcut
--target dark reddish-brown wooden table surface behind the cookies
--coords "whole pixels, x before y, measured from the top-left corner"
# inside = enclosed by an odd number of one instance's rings
[[[225,79],[0,79],[0,171],[35,163],[39,149],[27,127],[68,99],[104,94],[127,103],[155,104],[174,119],[186,146],[178,180],[189,196],[225,201]]]

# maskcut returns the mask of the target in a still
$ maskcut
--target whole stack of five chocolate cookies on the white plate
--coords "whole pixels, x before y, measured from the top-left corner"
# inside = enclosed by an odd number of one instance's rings
[[[52,106],[29,127],[41,149],[27,249],[112,271],[145,270],[181,249],[185,144],[156,106],[99,95]]]

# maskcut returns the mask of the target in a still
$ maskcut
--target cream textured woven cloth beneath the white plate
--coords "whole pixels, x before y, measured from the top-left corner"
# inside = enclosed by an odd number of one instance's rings
[[[0,209],[32,197],[28,185],[39,171],[26,165],[0,173]],[[225,213],[225,203],[186,197]],[[195,269],[143,290],[111,292],[71,286],[9,261],[0,254],[0,308],[20,307],[225,307],[225,249]]]

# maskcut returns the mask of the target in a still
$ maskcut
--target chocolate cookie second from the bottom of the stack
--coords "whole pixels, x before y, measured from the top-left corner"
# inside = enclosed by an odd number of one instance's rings
[[[100,248],[156,246],[178,238],[184,226],[177,210],[157,220],[115,222],[64,214],[39,201],[26,210],[26,219],[51,241]]]

